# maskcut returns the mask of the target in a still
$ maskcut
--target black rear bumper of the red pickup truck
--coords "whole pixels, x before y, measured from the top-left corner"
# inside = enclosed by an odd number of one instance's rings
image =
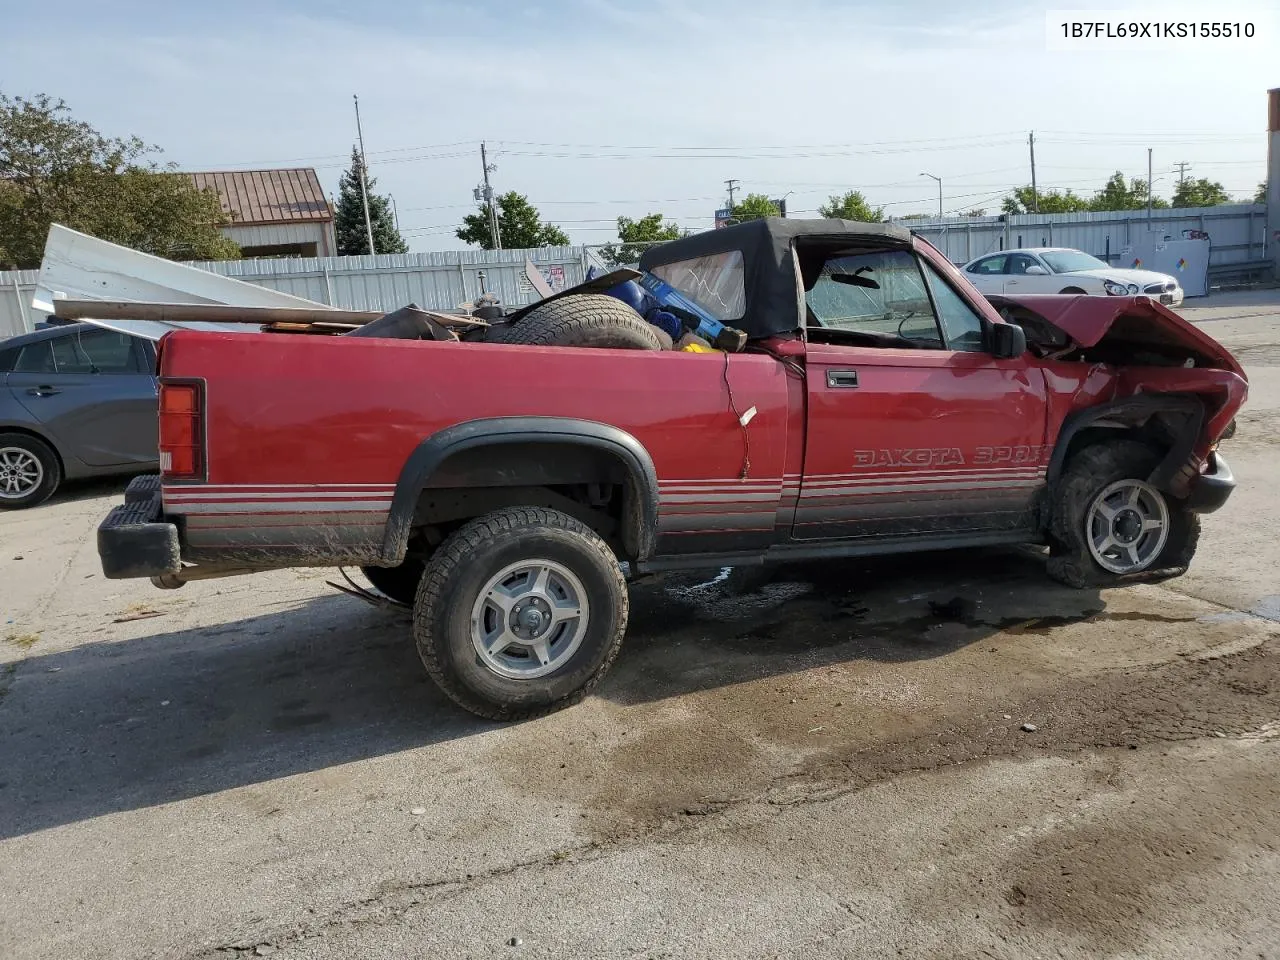
[[[156,477],[131,483],[124,503],[99,525],[97,557],[108,580],[155,577],[182,570],[178,527],[163,518]]]

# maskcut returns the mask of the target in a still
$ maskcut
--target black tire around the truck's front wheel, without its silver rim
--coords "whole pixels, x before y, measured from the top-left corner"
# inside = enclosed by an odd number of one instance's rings
[[[1176,499],[1156,492],[1169,513],[1164,547],[1140,568],[1115,572],[1101,566],[1089,549],[1089,515],[1112,484],[1144,481],[1161,461],[1160,451],[1138,440],[1110,440],[1085,447],[1066,465],[1052,493],[1048,575],[1074,588],[1107,586],[1180,576],[1196,556],[1199,516]]]

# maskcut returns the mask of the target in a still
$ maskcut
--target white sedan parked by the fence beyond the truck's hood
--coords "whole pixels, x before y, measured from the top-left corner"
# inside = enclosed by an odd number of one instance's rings
[[[1088,293],[1132,297],[1142,293],[1161,303],[1183,302],[1183,288],[1167,274],[1121,270],[1097,257],[1064,247],[1030,247],[987,253],[964,265],[982,293]]]

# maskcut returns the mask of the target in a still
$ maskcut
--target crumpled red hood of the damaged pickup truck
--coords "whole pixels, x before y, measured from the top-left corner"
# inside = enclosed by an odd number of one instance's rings
[[[1244,370],[1221,343],[1151,297],[989,296],[996,310],[1020,306],[1070,337],[1080,347],[1094,347],[1110,334],[1135,348],[1181,347],[1198,365],[1244,376]]]

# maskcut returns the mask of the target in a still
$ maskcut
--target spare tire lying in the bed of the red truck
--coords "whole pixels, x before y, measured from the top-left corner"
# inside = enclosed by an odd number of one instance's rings
[[[535,347],[662,349],[658,330],[616,297],[575,293],[534,307],[502,337]]]

